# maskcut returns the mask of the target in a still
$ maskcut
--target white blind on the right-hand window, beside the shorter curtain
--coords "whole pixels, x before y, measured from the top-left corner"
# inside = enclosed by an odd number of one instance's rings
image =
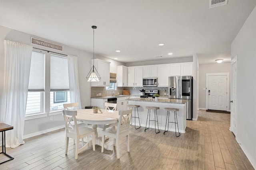
[[[51,91],[69,90],[68,58],[51,55],[50,89]]]

